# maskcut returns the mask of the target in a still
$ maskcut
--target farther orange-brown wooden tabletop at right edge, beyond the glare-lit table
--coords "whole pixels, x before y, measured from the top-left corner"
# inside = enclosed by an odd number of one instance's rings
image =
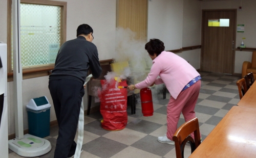
[[[254,82],[242,99],[238,102],[238,106],[256,108],[256,82]]]

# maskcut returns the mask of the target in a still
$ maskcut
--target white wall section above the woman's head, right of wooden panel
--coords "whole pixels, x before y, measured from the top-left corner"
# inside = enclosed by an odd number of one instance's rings
[[[183,1],[151,0],[148,2],[147,41],[158,38],[165,50],[182,47]]]

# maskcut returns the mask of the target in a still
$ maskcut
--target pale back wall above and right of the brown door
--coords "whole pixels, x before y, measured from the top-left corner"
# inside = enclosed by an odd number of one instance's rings
[[[237,24],[245,25],[244,33],[237,33],[236,47],[240,46],[242,38],[246,47],[255,48],[256,44],[256,1],[216,1],[202,2],[202,9],[239,9],[242,3],[242,11],[237,11]],[[252,53],[249,51],[236,51],[234,73],[242,73],[244,61],[251,61]]]

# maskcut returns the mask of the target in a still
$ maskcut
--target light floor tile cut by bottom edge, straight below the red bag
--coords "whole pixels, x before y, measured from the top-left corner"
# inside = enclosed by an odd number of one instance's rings
[[[146,145],[146,144],[145,144]],[[161,156],[155,155],[150,152],[143,151],[141,149],[134,148],[132,146],[129,146],[122,151],[118,152],[111,158],[160,158]]]

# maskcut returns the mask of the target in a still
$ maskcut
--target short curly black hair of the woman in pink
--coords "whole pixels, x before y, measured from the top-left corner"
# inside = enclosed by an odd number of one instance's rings
[[[164,51],[164,43],[159,39],[150,39],[150,41],[145,44],[145,49],[151,56],[154,56],[154,54],[158,56]]]

